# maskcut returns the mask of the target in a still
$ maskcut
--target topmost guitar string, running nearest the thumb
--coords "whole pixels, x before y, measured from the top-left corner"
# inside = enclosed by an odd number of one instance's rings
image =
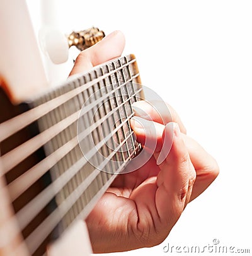
[[[135,62],[135,59],[132,59],[132,61],[129,62],[129,64],[132,64]],[[98,81],[102,80],[103,78],[106,78],[107,76],[110,76],[111,74],[115,73],[117,70],[113,70],[108,74],[105,74],[103,77],[97,78],[94,81],[90,81],[87,84],[83,84],[76,88],[73,91],[69,91],[64,95],[60,95],[57,98],[54,98],[50,100],[49,102],[43,103],[42,105],[39,105],[38,107],[32,108],[31,110],[26,111],[25,113],[21,113],[20,115],[13,117],[12,119],[9,119],[3,123],[0,124],[0,142],[4,139],[8,138],[9,136],[12,136],[14,133],[20,131],[27,125],[31,124],[32,122],[35,122],[37,119],[45,115],[46,113],[49,113],[50,111],[54,110],[55,108],[62,105],[64,102],[67,102],[68,100],[71,100],[74,96],[78,95],[82,91],[89,88],[89,86],[93,86],[93,84],[97,83]],[[71,81],[74,81],[77,78],[80,78],[84,76],[84,74],[76,74],[68,78],[66,83],[71,83]]]

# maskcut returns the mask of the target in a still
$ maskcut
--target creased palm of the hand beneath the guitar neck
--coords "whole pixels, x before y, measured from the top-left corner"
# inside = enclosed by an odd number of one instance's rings
[[[156,177],[159,170],[152,156],[138,170],[118,175],[87,219],[89,230],[93,230],[97,223],[101,227],[99,231],[101,240],[97,233],[93,235],[91,233],[91,240],[92,236],[95,237],[92,243],[96,244],[96,250],[99,251],[98,247],[104,248],[105,237],[110,240],[115,239],[118,245],[120,245],[120,238],[125,243],[125,237],[128,237],[128,245],[125,244],[125,248],[132,248],[132,240],[139,241],[136,248],[140,247],[139,244],[145,246],[144,242],[149,233],[153,233],[157,228],[158,215],[155,197]],[[118,237],[118,233],[121,237]],[[114,244],[111,250],[117,251],[117,245]]]

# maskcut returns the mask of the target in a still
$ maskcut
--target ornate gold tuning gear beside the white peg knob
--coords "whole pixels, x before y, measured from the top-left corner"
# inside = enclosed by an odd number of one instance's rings
[[[92,45],[95,45],[99,42],[103,37],[105,37],[105,33],[99,28],[88,28],[87,30],[81,30],[78,32],[72,32],[67,36],[69,48],[74,45],[79,50],[85,50]]]

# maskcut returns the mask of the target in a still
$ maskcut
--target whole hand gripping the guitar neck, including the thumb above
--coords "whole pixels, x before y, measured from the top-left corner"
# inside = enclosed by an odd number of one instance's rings
[[[91,69],[122,54],[125,39],[113,32],[81,52],[70,73]],[[137,102],[130,121],[137,141],[153,141],[154,153],[134,172],[118,175],[86,219],[93,252],[122,252],[161,243],[188,202],[200,195],[219,173],[203,148],[186,136],[178,114],[160,102]],[[169,111],[168,111],[169,110]],[[168,148],[170,148],[168,152]],[[149,148],[144,146],[144,152]],[[127,168],[133,168],[128,165]]]

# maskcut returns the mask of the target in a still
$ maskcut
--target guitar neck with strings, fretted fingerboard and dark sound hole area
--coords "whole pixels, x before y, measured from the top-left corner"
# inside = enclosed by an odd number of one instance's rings
[[[128,55],[18,106],[6,100],[0,163],[31,254],[42,255],[72,222],[86,218],[140,151],[130,118],[132,103],[143,97]]]

